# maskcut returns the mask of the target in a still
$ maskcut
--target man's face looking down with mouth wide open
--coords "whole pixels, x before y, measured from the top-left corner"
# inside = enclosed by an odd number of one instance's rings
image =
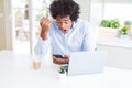
[[[67,15],[65,18],[61,18],[59,15],[57,15],[56,22],[57,22],[58,28],[61,29],[61,31],[64,34],[68,33],[69,29],[73,25],[73,22],[72,22],[69,15]]]

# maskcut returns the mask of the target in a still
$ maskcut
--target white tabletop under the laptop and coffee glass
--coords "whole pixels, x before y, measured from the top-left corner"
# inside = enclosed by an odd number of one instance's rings
[[[34,70],[29,55],[0,52],[0,88],[132,88],[132,70],[106,66],[100,74],[62,77],[47,59]]]

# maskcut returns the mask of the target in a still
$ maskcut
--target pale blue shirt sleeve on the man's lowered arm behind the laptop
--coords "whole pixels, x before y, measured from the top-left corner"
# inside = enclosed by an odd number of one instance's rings
[[[94,30],[91,29],[90,24],[86,24],[85,29],[85,36],[82,42],[82,50],[92,52],[96,50],[96,35]]]

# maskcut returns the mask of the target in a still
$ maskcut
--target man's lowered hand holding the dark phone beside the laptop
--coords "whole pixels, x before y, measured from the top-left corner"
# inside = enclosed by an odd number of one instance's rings
[[[68,64],[69,61],[69,56],[64,55],[63,58],[56,58],[55,56],[53,56],[53,63],[55,64]]]

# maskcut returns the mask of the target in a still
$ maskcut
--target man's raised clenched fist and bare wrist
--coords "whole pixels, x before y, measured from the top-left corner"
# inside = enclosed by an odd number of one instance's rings
[[[40,25],[42,28],[41,37],[43,40],[47,40],[47,33],[48,33],[50,28],[51,28],[51,21],[47,18],[43,18],[40,21]]]

